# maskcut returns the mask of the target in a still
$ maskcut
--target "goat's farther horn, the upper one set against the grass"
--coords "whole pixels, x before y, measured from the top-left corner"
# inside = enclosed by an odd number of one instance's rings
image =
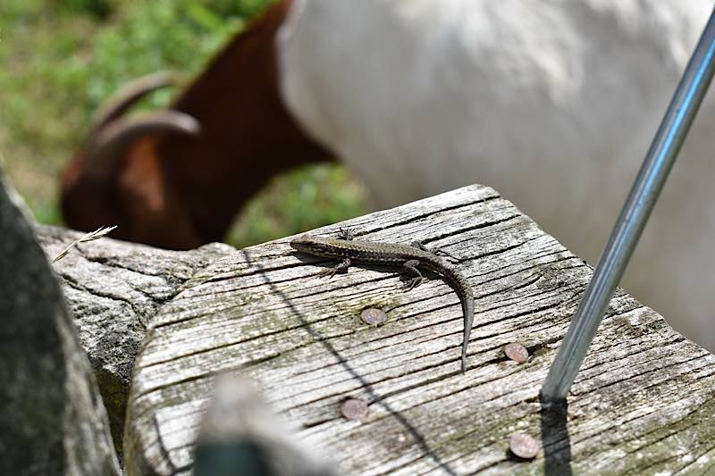
[[[91,140],[107,124],[126,113],[132,105],[137,104],[147,94],[167,86],[177,86],[180,82],[180,75],[173,71],[159,71],[134,79],[116,91],[100,107],[97,116],[92,121],[88,140]]]

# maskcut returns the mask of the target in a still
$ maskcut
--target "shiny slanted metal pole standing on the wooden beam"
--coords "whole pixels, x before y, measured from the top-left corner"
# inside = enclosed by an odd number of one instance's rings
[[[715,11],[680,79],[668,111],[660,122],[648,154],[638,172],[626,204],[610,234],[593,279],[559,347],[549,374],[543,382],[543,401],[566,398],[576,372],[601,323],[618,281],[641,237],[660,190],[675,163],[680,146],[710,86],[715,71]]]

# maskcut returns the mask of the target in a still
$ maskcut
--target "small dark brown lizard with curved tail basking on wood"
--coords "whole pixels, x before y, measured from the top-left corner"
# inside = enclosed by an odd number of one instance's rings
[[[352,233],[341,229],[341,238],[323,238],[303,235],[293,238],[290,246],[299,253],[336,258],[341,260],[337,266],[325,270],[322,274],[334,276],[336,272],[348,271],[352,263],[373,263],[387,266],[401,266],[408,280],[407,290],[416,288],[425,280],[419,271],[424,268],[436,272],[448,281],[457,292],[464,315],[464,333],[462,339],[462,372],[467,372],[467,344],[475,318],[475,298],[467,279],[446,260],[425,249],[421,244],[400,245],[354,239]]]

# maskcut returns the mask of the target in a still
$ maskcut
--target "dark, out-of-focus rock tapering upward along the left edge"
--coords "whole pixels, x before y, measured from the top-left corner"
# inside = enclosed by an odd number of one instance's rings
[[[0,171],[0,473],[119,474],[55,275]]]

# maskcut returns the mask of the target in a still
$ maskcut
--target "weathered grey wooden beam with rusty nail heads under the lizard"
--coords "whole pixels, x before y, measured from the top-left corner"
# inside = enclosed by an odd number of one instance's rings
[[[212,380],[242,372],[343,473],[707,471],[715,456],[715,356],[621,290],[568,398],[538,393],[592,269],[491,188],[467,187],[338,226],[361,238],[420,240],[458,257],[475,329],[459,372],[458,296],[438,277],[405,292],[394,270],[318,276],[325,260],[288,238],[218,260],[149,324],[130,391],[127,469],[189,472]],[[366,308],[387,321],[360,322]],[[526,363],[503,347],[523,344]],[[341,415],[366,402],[357,420]],[[509,452],[535,438],[533,461]]]

